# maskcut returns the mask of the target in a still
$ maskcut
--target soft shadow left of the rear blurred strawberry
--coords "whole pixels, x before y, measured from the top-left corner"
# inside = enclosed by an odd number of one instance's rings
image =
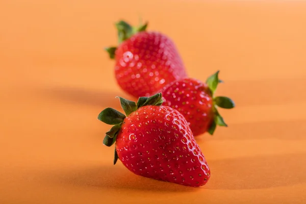
[[[79,103],[87,106],[119,108],[120,103],[119,99],[115,98],[116,96],[136,100],[123,92],[90,90],[81,87],[51,87],[40,91],[48,97],[59,98],[70,101],[71,103]]]

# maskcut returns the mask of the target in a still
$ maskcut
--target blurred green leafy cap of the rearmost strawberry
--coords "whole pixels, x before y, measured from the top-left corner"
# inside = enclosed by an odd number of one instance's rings
[[[129,39],[130,37],[132,37],[136,33],[145,31],[146,28],[147,28],[147,25],[148,25],[147,22],[142,24],[142,22],[140,21],[138,27],[132,27],[132,25],[125,22],[124,20],[120,20],[120,21],[116,22],[115,26],[116,26],[117,34],[118,34],[118,44],[120,44],[124,40]],[[108,52],[111,59],[115,58],[115,52],[116,52],[117,47],[115,47],[115,46],[105,47],[104,49],[106,50],[106,52]]]

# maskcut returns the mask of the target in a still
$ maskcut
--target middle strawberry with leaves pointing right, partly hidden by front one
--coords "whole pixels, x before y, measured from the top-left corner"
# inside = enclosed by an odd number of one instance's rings
[[[217,110],[234,108],[234,102],[224,96],[214,97],[217,88],[217,71],[206,84],[195,79],[185,78],[172,82],[162,89],[164,105],[180,111],[190,126],[194,136],[209,132],[213,135],[216,125],[227,126]]]

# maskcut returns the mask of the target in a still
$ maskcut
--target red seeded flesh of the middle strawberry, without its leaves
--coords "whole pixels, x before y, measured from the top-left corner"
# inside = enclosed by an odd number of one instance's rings
[[[184,115],[194,136],[205,133],[214,121],[213,98],[207,84],[185,78],[162,91],[165,106]]]

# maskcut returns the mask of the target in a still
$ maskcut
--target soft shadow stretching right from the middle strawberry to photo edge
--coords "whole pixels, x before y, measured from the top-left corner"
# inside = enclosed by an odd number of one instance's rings
[[[258,121],[252,123],[230,124],[228,127],[218,127],[215,140],[248,140],[277,138],[281,140],[304,139],[306,134],[305,120],[289,121]],[[294,131],[293,131],[294,130]],[[201,137],[209,137],[202,135]]]

